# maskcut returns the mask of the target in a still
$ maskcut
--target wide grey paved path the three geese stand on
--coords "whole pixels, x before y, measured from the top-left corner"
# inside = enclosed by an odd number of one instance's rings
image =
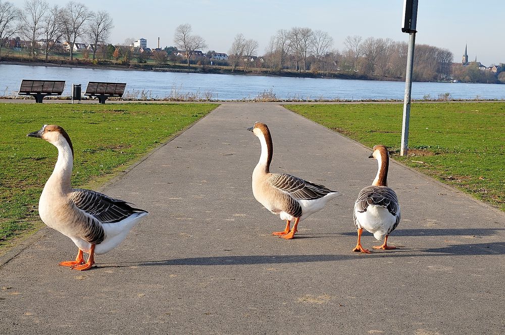
[[[343,194],[291,241],[270,236],[284,222],[252,196],[255,121],[271,129],[272,172]],[[402,247],[351,252],[369,154],[277,104],[223,104],[102,190],[151,214],[95,268],[57,266],[77,249],[48,229],[0,268],[0,333],[503,333],[502,212],[393,162],[402,220],[388,242]]]

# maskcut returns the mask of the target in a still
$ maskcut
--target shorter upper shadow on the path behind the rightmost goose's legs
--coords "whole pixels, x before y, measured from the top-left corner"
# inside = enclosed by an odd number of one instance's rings
[[[505,228],[449,228],[449,229],[397,229],[391,233],[393,236],[492,236],[505,231]],[[330,233],[332,234],[332,233]],[[364,236],[372,235],[363,232]],[[339,233],[340,236],[356,236],[355,232]]]

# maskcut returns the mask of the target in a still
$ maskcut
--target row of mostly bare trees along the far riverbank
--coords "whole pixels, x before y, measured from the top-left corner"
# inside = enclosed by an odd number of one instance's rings
[[[92,59],[112,58],[129,64],[132,57],[137,63],[145,63],[151,58],[159,64],[166,64],[168,57],[176,61],[175,53],[181,54],[187,66],[193,63],[207,65],[214,50],[199,53],[208,45],[205,39],[193,34],[190,24],[179,25],[174,32],[174,46],[165,47],[163,52],[133,54],[133,41],[128,38],[124,45],[112,45],[108,39],[114,28],[113,19],[106,11],[93,12],[85,5],[70,1],[67,5],[49,6],[45,0],[26,0],[23,9],[17,9],[8,1],[0,0],[0,41],[9,40],[18,34],[29,41],[30,56],[45,55],[47,61],[51,52],[57,51],[55,41],[64,38],[69,44],[70,60],[73,60],[74,44],[85,41],[90,45]],[[40,40],[43,42],[40,43]],[[39,41],[39,42],[37,42]],[[39,45],[42,44],[42,51]],[[269,72],[274,74],[313,73],[327,76],[367,79],[405,79],[408,45],[405,41],[390,38],[347,36],[344,49],[333,47],[333,38],[325,31],[307,27],[280,29],[271,36],[263,55],[259,56],[259,43],[238,33],[228,50],[226,61],[216,64],[229,66],[232,72]],[[0,43],[0,57],[2,46]],[[61,47],[61,46],[60,46]],[[61,50],[59,50],[62,52]],[[165,52],[166,51],[166,52]],[[87,52],[87,51],[85,51]],[[496,75],[476,70],[474,65],[463,67],[452,63],[453,54],[448,49],[427,44],[415,48],[413,79],[416,81],[475,81],[497,82],[504,79]],[[503,69],[505,70],[505,69]]]

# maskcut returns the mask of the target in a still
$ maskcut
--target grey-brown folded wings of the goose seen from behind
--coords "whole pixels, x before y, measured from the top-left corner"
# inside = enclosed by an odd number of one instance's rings
[[[368,206],[380,206],[386,208],[391,215],[396,217],[394,225],[388,233],[392,232],[400,222],[400,206],[396,193],[386,186],[367,186],[360,191],[355,204],[354,219],[356,222],[356,212],[366,212]]]

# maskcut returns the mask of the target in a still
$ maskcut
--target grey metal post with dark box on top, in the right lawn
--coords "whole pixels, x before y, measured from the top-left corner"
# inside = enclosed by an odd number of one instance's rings
[[[409,150],[409,119],[412,92],[412,70],[414,67],[414,46],[416,44],[418,0],[403,1],[403,22],[401,31],[408,33],[409,50],[407,53],[407,71],[405,73],[405,97],[403,97],[403,118],[401,122],[400,156],[406,156]]]

